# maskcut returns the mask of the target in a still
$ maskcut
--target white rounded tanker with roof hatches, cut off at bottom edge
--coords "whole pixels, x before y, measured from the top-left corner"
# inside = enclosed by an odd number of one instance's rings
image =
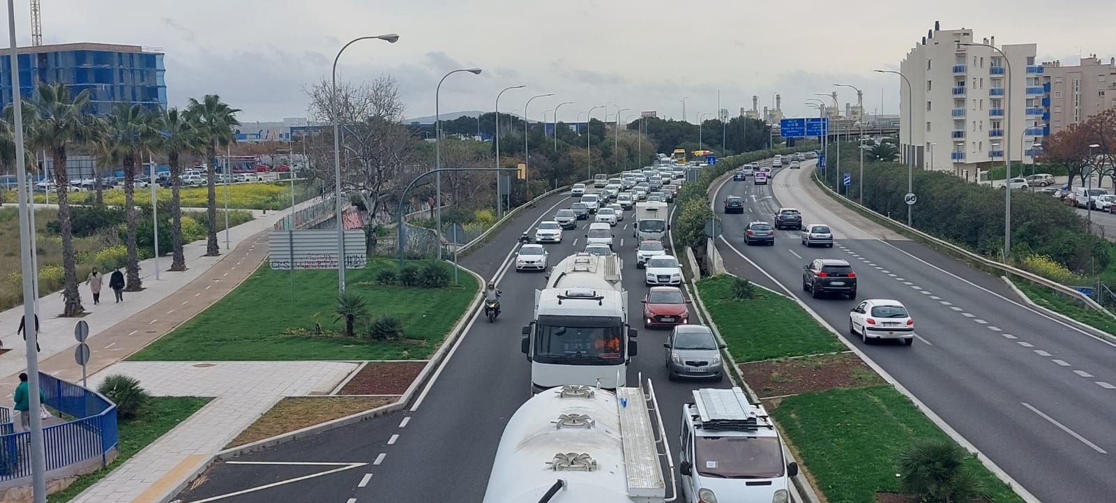
[[[672,502],[677,484],[665,439],[650,379],[646,389],[562,386],[538,394],[508,420],[483,503]]]

